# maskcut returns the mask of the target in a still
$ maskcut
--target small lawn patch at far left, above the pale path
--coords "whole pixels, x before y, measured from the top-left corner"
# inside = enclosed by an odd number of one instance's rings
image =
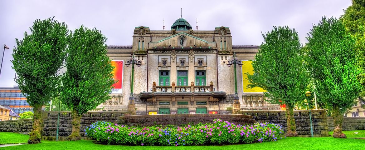
[[[0,132],[0,145],[27,143],[28,139],[29,135],[12,133],[12,132]]]

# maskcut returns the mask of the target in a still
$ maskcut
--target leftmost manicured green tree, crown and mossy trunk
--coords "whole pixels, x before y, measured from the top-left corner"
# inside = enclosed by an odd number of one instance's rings
[[[28,143],[41,142],[42,106],[57,96],[58,71],[65,59],[67,25],[53,18],[35,20],[31,34],[16,39],[12,56],[15,82],[33,107],[33,127]]]

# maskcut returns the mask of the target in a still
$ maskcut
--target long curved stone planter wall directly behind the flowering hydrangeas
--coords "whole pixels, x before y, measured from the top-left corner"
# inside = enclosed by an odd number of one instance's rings
[[[235,124],[254,124],[256,121],[249,115],[233,114],[161,114],[161,115],[138,115],[138,116],[121,116],[115,123],[129,126],[153,126],[153,125],[182,125],[213,123],[214,119],[221,119]]]

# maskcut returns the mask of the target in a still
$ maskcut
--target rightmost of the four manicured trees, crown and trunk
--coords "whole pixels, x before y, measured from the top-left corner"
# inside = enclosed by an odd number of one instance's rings
[[[333,137],[346,138],[342,133],[342,114],[351,108],[361,89],[354,65],[355,38],[346,32],[341,21],[325,17],[313,25],[308,35],[306,61],[316,94],[332,107]]]

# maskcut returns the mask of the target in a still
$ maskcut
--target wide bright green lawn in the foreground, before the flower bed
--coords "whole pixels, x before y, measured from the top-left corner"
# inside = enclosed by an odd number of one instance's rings
[[[260,150],[352,150],[365,147],[364,139],[338,139],[333,137],[325,138],[283,138],[273,142],[225,145],[225,146],[120,146],[120,145],[98,145],[91,140],[80,141],[42,141],[35,145],[19,145],[0,147],[0,150],[228,150],[228,149],[260,149]]]

